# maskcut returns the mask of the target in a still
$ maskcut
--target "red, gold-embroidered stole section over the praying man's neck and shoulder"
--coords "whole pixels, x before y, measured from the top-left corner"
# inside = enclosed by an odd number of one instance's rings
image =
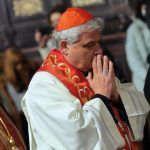
[[[88,81],[75,67],[70,65],[60,51],[53,50],[38,71],[50,72],[57,77],[84,105],[94,95]]]

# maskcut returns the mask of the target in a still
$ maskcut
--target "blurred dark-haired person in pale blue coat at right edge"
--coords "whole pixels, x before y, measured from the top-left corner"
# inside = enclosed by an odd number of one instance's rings
[[[147,1],[129,0],[134,11],[133,22],[127,31],[126,57],[132,72],[132,81],[143,92],[150,54],[150,30],[146,22]]]

